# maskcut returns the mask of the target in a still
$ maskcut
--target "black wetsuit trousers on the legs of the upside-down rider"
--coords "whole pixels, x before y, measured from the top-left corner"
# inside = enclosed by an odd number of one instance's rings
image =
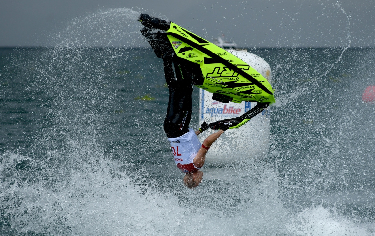
[[[169,102],[164,120],[164,131],[168,138],[176,138],[189,132],[193,88],[187,78],[182,78],[180,73],[177,73],[177,78],[174,76],[171,57],[165,57],[163,61],[165,81],[169,88]]]

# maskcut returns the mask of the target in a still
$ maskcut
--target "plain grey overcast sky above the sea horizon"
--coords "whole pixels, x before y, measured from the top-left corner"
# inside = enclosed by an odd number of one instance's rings
[[[208,40],[225,34],[247,47],[375,46],[371,0],[2,0],[0,46],[51,46],[69,22],[108,8],[165,15]]]

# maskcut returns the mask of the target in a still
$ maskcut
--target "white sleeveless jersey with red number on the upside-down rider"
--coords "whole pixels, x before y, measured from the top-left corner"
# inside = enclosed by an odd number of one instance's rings
[[[189,132],[187,132],[186,134],[177,138],[168,138],[168,140],[169,140],[169,143],[171,144],[174,161],[177,167],[180,168],[185,173],[191,172],[188,170],[189,168],[183,168],[183,167],[185,165],[189,165],[193,163],[193,160],[196,154],[198,153],[199,149],[202,146],[194,130],[189,128]],[[199,168],[196,168],[196,169],[199,169]]]

